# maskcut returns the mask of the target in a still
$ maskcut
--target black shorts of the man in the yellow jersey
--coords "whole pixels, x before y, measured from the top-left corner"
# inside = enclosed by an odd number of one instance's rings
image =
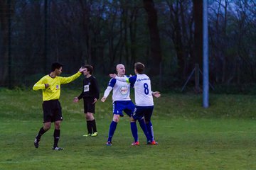
[[[63,120],[58,100],[43,101],[43,123]]]

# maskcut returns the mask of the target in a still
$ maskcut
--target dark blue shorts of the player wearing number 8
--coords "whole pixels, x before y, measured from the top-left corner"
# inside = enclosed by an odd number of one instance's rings
[[[153,110],[154,106],[135,106],[132,118],[134,118],[134,120],[141,120],[144,116],[145,121],[149,122],[151,120]]]

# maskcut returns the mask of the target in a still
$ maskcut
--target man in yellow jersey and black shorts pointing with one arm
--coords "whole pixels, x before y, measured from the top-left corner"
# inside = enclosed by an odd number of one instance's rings
[[[54,143],[53,150],[62,150],[63,148],[58,147],[58,141],[60,139],[60,123],[63,120],[62,111],[60,102],[60,85],[68,84],[71,81],[74,81],[85,70],[80,68],[79,71],[70,77],[60,77],[62,72],[63,65],[54,62],[51,66],[50,74],[42,77],[36,84],[33,86],[33,90],[42,90],[43,91],[43,127],[39,130],[38,135],[34,140],[34,145],[36,148],[39,146],[39,141],[41,136],[50,129],[51,123],[54,122],[55,130],[53,133]]]

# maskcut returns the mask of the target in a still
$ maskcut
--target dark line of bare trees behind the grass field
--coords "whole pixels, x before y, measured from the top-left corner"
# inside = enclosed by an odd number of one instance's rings
[[[255,1],[208,1],[212,84],[256,78]],[[100,77],[144,62],[156,86],[181,86],[202,70],[203,0],[0,0],[0,86],[30,84],[59,61]]]

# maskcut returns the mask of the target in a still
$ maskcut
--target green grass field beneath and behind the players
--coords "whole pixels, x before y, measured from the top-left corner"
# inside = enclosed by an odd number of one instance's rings
[[[41,92],[0,89],[0,169],[256,169],[255,96],[210,95],[210,108],[195,94],[162,94],[152,122],[159,145],[132,147],[129,120],[117,125],[112,147],[105,146],[112,120],[111,97],[97,103],[97,137],[82,137],[85,119],[80,91],[61,94],[64,121],[60,147],[53,151],[53,128],[38,149],[42,126]]]

